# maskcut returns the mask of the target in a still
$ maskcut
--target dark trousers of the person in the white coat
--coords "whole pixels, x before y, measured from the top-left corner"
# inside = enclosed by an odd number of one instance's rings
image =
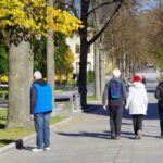
[[[133,126],[134,126],[134,134],[137,135],[138,130],[142,130],[142,114],[135,114],[133,115]]]

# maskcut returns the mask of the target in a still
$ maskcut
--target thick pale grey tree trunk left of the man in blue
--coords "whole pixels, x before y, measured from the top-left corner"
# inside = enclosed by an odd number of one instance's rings
[[[30,43],[11,45],[9,50],[9,110],[7,127],[24,126],[29,120],[29,90],[33,76]]]

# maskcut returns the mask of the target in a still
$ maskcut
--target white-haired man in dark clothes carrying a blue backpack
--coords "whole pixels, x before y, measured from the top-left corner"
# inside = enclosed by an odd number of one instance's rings
[[[113,70],[113,77],[105,84],[102,104],[110,113],[111,139],[121,138],[123,105],[127,98],[126,86],[120,78],[121,71]]]

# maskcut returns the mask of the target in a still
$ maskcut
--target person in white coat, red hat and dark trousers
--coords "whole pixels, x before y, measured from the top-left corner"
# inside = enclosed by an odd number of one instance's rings
[[[147,114],[148,97],[145,85],[138,75],[134,76],[125,108],[129,109],[129,114],[133,116],[136,139],[141,139],[142,118]]]

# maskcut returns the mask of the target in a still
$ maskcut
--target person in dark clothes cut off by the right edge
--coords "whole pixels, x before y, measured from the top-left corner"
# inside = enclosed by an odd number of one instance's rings
[[[155,89],[155,98],[158,99],[158,112],[160,117],[161,138],[163,138],[163,76]]]

